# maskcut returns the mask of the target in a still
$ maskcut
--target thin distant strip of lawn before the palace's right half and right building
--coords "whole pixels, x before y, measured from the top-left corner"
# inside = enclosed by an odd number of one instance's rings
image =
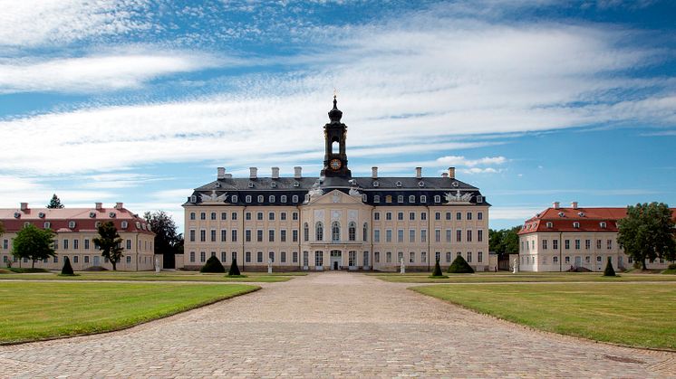
[[[373,273],[380,280],[395,283],[497,283],[497,282],[543,282],[543,281],[676,281],[676,276],[654,274],[620,273],[617,277],[604,277],[602,272],[478,272],[475,274],[449,274],[449,279],[431,279],[429,272],[410,274]]]

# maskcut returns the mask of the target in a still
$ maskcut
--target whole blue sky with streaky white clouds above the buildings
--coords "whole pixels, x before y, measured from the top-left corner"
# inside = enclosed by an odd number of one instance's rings
[[[8,1],[0,206],[124,202],[182,225],[216,167],[440,175],[491,227],[554,201],[676,204],[671,1]]]

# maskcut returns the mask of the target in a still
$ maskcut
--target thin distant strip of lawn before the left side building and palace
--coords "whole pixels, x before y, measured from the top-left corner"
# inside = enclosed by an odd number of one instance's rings
[[[238,282],[276,282],[292,280],[294,276],[307,275],[304,272],[244,272],[246,278],[226,278],[226,274],[203,274],[195,271],[162,271],[159,274],[151,271],[77,271],[77,276],[62,277],[58,272],[39,274],[0,275],[0,280],[140,280],[140,281],[238,281]]]

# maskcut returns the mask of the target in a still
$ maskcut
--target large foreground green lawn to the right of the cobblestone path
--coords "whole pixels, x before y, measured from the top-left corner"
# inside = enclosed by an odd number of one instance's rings
[[[550,332],[676,349],[676,283],[453,284],[412,289]]]

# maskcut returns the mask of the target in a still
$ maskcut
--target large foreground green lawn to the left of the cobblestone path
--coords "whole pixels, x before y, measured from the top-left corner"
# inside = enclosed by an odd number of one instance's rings
[[[244,284],[0,282],[0,343],[131,327],[256,289]]]

